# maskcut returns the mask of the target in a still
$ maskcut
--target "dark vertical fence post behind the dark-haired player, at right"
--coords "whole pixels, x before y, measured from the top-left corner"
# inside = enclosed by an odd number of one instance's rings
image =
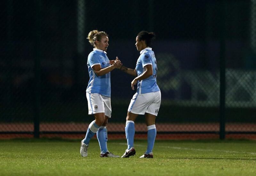
[[[220,139],[225,139],[225,0],[220,5]]]

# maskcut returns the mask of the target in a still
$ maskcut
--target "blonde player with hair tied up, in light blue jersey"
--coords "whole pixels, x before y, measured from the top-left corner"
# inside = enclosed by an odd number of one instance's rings
[[[107,124],[111,117],[110,103],[110,71],[122,66],[121,61],[113,60],[110,64],[107,56],[108,35],[106,32],[92,30],[87,39],[94,46],[88,55],[87,66],[90,80],[86,89],[89,115],[93,114],[95,120],[89,124],[85,138],[81,141],[80,154],[87,156],[90,139],[97,133],[100,144],[100,157],[119,157],[108,151]]]

